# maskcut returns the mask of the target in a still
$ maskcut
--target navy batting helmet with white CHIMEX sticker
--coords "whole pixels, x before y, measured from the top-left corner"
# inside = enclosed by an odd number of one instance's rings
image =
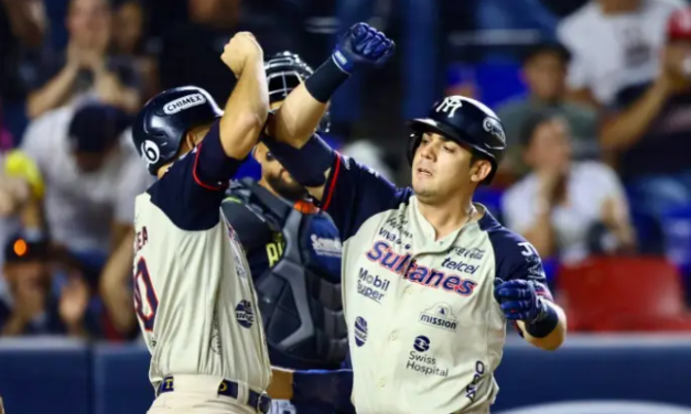
[[[196,86],[162,91],[139,111],[132,127],[132,140],[149,173],[156,175],[162,165],[177,155],[188,130],[220,117],[214,98]]]

